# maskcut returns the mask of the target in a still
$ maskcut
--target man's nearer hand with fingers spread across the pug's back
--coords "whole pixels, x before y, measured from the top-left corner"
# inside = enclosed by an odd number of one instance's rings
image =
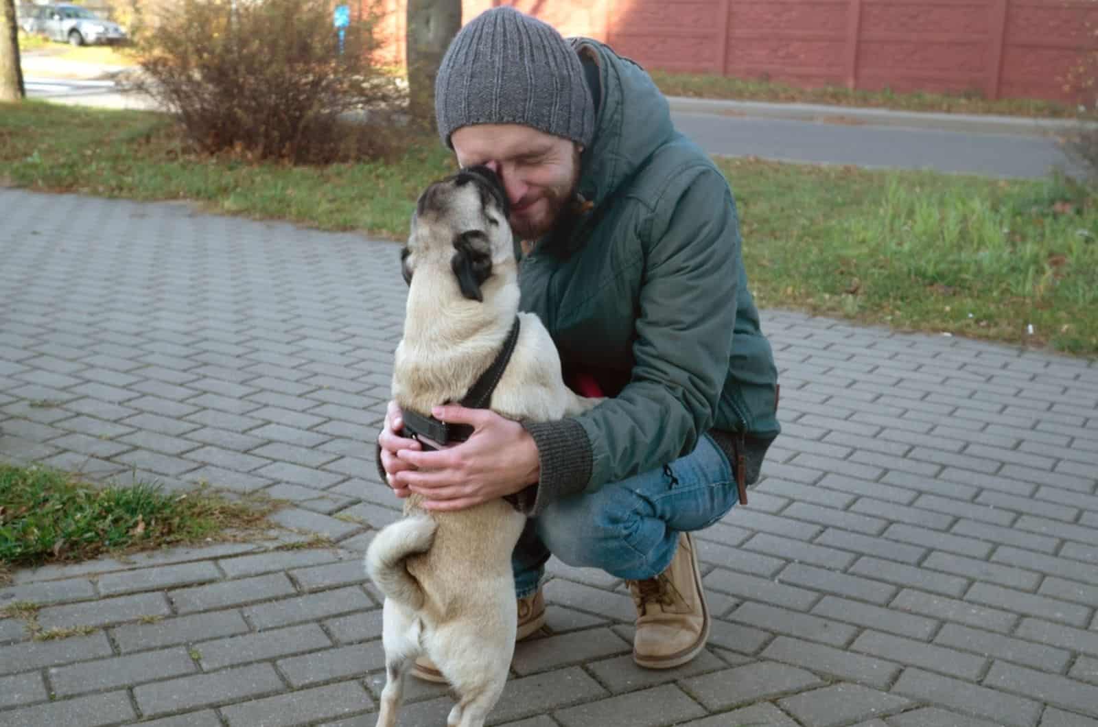
[[[449,424],[470,424],[473,434],[467,441],[436,451],[400,448],[393,470],[383,459],[390,484],[399,495],[407,491],[422,494],[427,510],[461,510],[514,494],[538,481],[538,448],[518,422],[486,409],[458,405],[436,406],[432,414]]]

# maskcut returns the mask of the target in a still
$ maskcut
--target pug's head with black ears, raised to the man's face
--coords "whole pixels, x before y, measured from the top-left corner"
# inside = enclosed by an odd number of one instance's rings
[[[507,192],[488,167],[467,167],[434,182],[416,202],[407,245],[401,250],[404,280],[417,267],[449,261],[461,294],[483,301],[481,286],[492,264],[514,257]]]

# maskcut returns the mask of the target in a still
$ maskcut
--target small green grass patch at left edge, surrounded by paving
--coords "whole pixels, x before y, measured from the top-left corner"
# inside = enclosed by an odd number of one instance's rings
[[[0,463],[0,563],[10,569],[239,537],[268,527],[274,506],[144,483],[96,488],[47,468]]]

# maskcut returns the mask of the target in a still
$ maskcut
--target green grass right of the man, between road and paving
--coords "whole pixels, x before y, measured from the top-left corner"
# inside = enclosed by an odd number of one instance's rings
[[[1098,199],[1079,184],[720,166],[762,306],[1098,354]]]

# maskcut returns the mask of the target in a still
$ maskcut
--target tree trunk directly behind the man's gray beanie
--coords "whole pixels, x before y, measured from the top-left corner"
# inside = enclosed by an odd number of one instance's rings
[[[407,0],[408,111],[430,127],[435,126],[435,76],[459,30],[461,0]]]

